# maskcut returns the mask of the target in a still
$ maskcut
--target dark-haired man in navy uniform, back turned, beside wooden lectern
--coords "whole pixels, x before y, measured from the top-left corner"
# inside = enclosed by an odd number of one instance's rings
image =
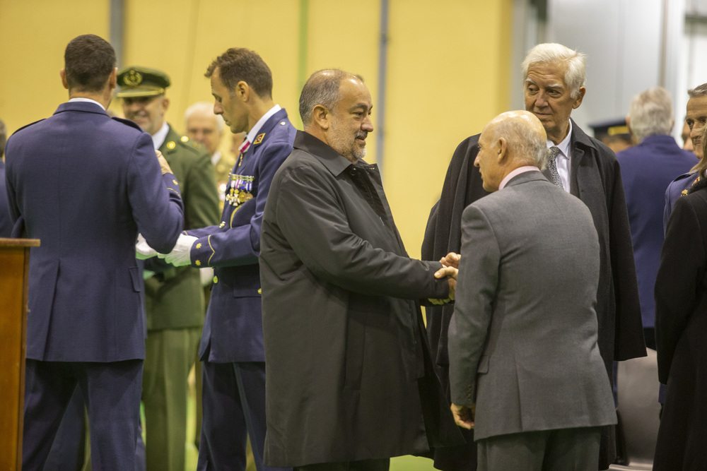
[[[42,469],[78,387],[93,470],[128,470],[145,357],[134,244],[140,232],[168,253],[184,210],[150,136],[105,111],[117,81],[111,45],[78,36],[64,61],[69,102],[7,143],[13,236],[42,243],[30,256],[23,469]]]

